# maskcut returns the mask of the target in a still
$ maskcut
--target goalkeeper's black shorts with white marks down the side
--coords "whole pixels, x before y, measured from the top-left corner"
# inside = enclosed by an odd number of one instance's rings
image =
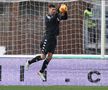
[[[56,37],[51,37],[51,38],[47,38],[46,36],[44,36],[41,44],[40,44],[40,48],[42,53],[47,54],[49,53],[54,53],[55,48],[57,45],[57,39]]]

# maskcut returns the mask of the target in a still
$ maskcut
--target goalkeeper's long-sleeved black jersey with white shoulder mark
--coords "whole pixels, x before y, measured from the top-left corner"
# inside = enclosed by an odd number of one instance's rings
[[[60,13],[57,13],[55,15],[46,15],[45,17],[46,36],[49,38],[58,36],[59,35],[59,22],[60,20],[66,20],[66,19],[67,19],[67,12],[64,15]]]

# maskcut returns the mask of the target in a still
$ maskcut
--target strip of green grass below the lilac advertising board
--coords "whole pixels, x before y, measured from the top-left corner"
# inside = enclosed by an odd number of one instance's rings
[[[105,86],[0,86],[0,90],[108,90]]]

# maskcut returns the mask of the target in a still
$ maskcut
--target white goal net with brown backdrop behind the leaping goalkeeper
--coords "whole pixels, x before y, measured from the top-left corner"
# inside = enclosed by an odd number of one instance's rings
[[[66,3],[69,8],[68,20],[60,25],[56,54],[100,54],[100,0],[1,0],[0,46],[6,48],[5,54],[40,53],[40,41],[45,30],[44,16],[47,14],[49,3]],[[84,23],[84,10],[87,7],[93,12],[93,21],[89,25]],[[107,12],[106,9],[106,18]],[[87,35],[84,34],[84,29],[88,31]],[[87,43],[84,42],[86,39]]]

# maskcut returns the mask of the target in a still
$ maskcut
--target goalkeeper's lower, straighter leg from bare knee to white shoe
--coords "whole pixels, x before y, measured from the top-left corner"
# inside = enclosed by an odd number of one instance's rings
[[[41,77],[43,81],[45,81],[45,75],[44,75],[45,69],[47,68],[49,62],[51,61],[52,55],[53,55],[52,53],[47,54],[46,59],[44,60],[43,65],[41,67],[41,70],[38,72],[38,75]]]

